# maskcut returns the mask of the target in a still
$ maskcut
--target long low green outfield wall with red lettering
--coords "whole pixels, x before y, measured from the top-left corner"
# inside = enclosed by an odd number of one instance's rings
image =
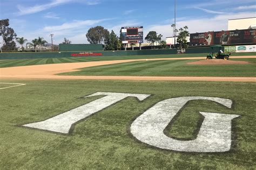
[[[223,49],[224,50],[224,49]],[[186,53],[212,52],[209,47],[193,47],[186,49]],[[214,51],[213,51],[214,52]],[[138,55],[174,55],[177,49],[164,50],[134,50],[134,51],[59,51],[59,52],[4,52],[0,59],[36,59],[36,58],[63,58],[86,56],[138,56]]]

